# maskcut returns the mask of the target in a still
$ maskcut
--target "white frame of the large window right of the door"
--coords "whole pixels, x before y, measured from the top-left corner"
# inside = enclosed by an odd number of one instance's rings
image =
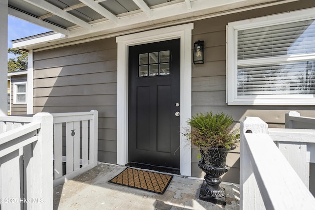
[[[315,105],[315,95],[237,95],[237,66],[246,64],[237,60],[237,32],[238,30],[248,30],[272,25],[286,24],[298,21],[315,19],[315,8],[287,12],[278,15],[254,18],[243,21],[228,23],[227,25],[227,45],[226,45],[226,103],[228,105]],[[289,61],[291,56],[286,58],[262,58],[259,64],[273,61]],[[293,58],[294,59],[294,58]],[[315,54],[308,54],[300,60],[315,59]],[[258,63],[257,63],[258,64]]]

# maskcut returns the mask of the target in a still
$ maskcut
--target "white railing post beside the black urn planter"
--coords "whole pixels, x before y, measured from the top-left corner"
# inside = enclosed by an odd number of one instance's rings
[[[263,210],[262,200],[253,169],[248,145],[244,140],[244,133],[268,134],[268,125],[257,117],[246,117],[241,121],[241,153],[240,153],[240,209],[241,210]]]

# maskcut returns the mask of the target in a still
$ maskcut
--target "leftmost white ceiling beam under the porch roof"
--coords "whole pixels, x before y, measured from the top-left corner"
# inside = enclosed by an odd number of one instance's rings
[[[28,14],[26,14],[24,12],[21,12],[21,11],[16,10],[14,8],[11,8],[11,7],[8,8],[8,14],[12,15],[14,17],[20,18],[22,20],[26,20],[28,22],[31,22],[31,23],[33,23],[35,25],[44,27],[46,29],[50,29],[50,30],[54,30],[54,31],[60,32],[60,33],[62,33],[64,35],[68,35],[68,32],[69,32],[66,29],[63,29],[63,28],[61,28],[59,26],[56,26],[56,25],[51,24],[51,23],[48,23],[46,21],[43,21],[41,19],[38,19],[36,17],[33,17],[31,15],[28,15]]]

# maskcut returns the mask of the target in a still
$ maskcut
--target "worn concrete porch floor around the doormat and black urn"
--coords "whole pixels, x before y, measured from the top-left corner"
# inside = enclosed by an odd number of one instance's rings
[[[126,167],[99,164],[54,188],[54,210],[239,210],[239,187],[222,184],[226,206],[199,199],[201,179],[174,175],[163,195],[109,183]]]

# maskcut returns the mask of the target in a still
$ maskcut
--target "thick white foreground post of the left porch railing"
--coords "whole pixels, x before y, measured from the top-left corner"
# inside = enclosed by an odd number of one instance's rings
[[[41,128],[27,169],[27,198],[35,201],[28,203],[28,210],[52,210],[53,116],[49,113],[38,113],[33,116],[33,121],[39,121]]]

